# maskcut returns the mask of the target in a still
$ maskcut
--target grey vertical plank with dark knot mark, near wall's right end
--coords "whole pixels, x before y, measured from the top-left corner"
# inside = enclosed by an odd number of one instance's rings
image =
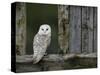
[[[93,8],[82,7],[82,53],[93,52]]]

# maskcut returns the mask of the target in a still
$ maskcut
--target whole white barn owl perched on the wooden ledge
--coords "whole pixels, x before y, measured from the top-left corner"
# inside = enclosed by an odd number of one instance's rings
[[[33,64],[38,63],[46,53],[51,41],[51,27],[47,24],[40,26],[33,39]]]

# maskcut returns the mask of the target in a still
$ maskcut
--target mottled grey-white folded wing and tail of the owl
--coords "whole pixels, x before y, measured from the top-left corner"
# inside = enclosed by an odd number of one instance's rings
[[[39,62],[46,52],[46,47],[43,44],[43,40],[40,37],[42,36],[36,35],[33,41],[33,51],[34,51],[33,63],[34,64]]]

